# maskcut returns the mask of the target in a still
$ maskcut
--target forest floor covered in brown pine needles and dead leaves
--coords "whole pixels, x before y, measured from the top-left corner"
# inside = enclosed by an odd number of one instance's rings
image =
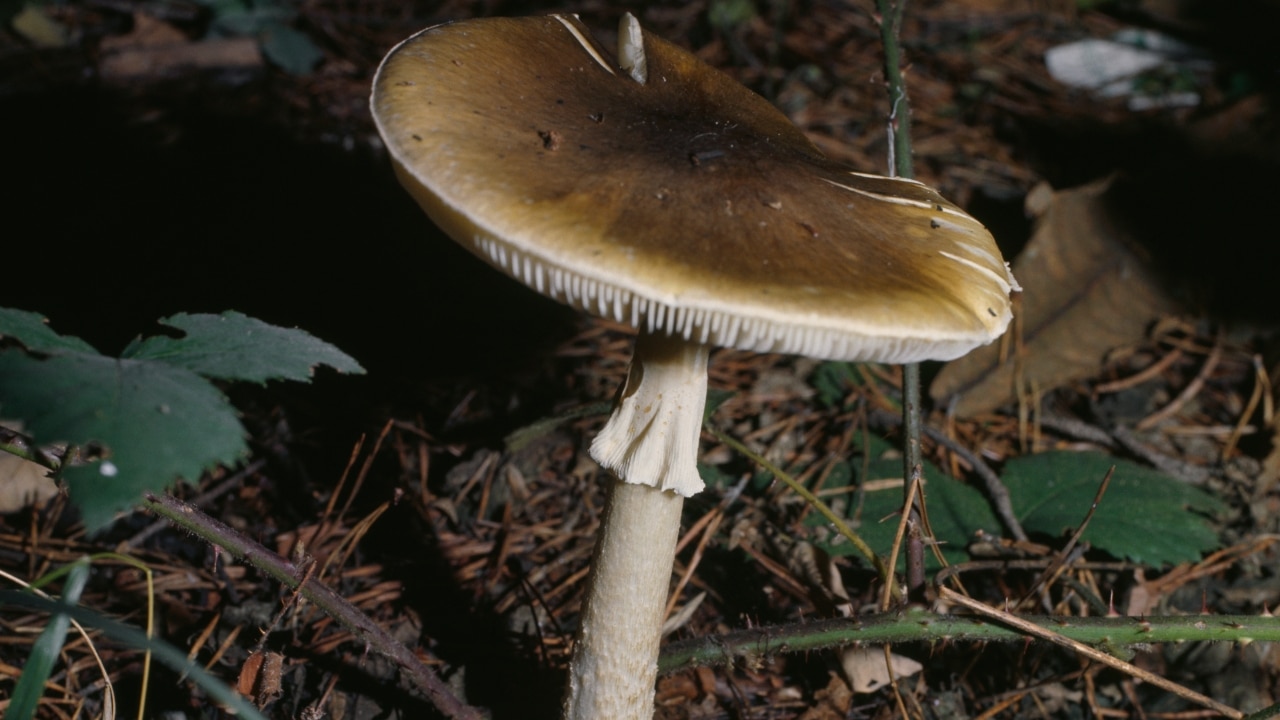
[[[611,46],[631,9],[646,31],[773,101],[828,155],[882,172],[872,3],[247,6],[310,42],[305,68],[282,64],[306,51],[264,54],[261,32],[220,26],[228,10],[214,3],[27,5],[51,26],[9,9],[0,306],[38,310],[108,352],[157,318],[236,309],[358,359],[365,377],[230,388],[252,460],[174,492],[285,557],[328,562],[323,582],[415,648],[463,703],[494,719],[554,716],[602,503],[602,470],[585,447],[625,377],[631,334],[517,287],[430,225],[372,127],[378,61],[434,23],[543,12],[580,14]],[[1270,384],[1280,243],[1267,215],[1280,190],[1277,23],[1280,3],[1267,0],[908,6],[916,174],[992,229],[1028,290],[1004,346],[1016,368],[993,356],[925,366],[937,396],[925,457],[982,487],[975,465],[1000,473],[1038,452],[1107,452],[1229,507],[1211,524],[1219,552],[1201,562],[1151,566],[1084,547],[1028,615],[1097,615],[1068,589],[1079,587],[1137,616],[1261,615],[1280,602]],[[1114,97],[1070,87],[1046,64],[1051,49],[1125,31],[1190,49],[1164,56],[1140,92],[1129,83]],[[1094,213],[1106,222],[1085,228]],[[1053,250],[1023,254],[1048,236]],[[1033,268],[1037,254],[1057,263]],[[733,393],[716,427],[815,488],[833,488],[832,468],[868,437],[901,445],[896,368],[721,350],[710,386]],[[527,442],[512,442],[531,425]],[[707,473],[723,483],[687,503],[681,623],[668,642],[874,609],[874,574],[827,555],[812,509],[710,434],[703,441]],[[159,633],[215,675],[234,685],[252,651],[278,653],[279,687],[255,696],[268,716],[440,715],[393,664],[279,583],[155,524],[137,512],[86,537],[64,498],[19,510],[0,518],[0,569],[31,580],[84,553],[127,551],[155,574]],[[1069,537],[988,544],[1048,565]],[[995,607],[1037,577],[973,573],[969,591]],[[146,594],[141,573],[105,559],[82,603],[141,626]],[[0,703],[42,623],[0,615]],[[134,715],[142,653],[97,650],[116,712]],[[849,655],[829,650],[682,669],[659,679],[658,716],[1215,716],[1047,643],[934,638],[895,651],[924,665],[896,691],[855,693]],[[1243,712],[1280,700],[1280,656],[1267,642],[1116,653]],[[104,716],[102,684],[87,643],[69,638],[38,716]],[[148,688],[147,716],[225,714],[161,667]]]

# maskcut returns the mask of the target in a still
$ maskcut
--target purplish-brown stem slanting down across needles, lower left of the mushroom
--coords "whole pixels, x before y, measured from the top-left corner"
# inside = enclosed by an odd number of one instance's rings
[[[399,670],[419,689],[426,693],[428,700],[447,717],[480,720],[480,712],[454,697],[448,685],[430,667],[422,664],[412,650],[397,642],[387,630],[379,628],[367,615],[347,602],[346,598],[330,587],[311,579],[294,564],[205,515],[197,507],[168,495],[147,493],[146,498],[146,506],[152,512],[216,544],[234,557],[248,562],[282,584],[300,592],[302,597],[337,620],[343,628],[356,635],[357,639],[394,661],[399,666]]]

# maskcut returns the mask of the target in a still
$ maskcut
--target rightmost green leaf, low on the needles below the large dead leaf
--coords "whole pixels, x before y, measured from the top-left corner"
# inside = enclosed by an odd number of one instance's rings
[[[1042,452],[1010,460],[1002,480],[1029,533],[1059,537],[1083,520],[1116,466],[1083,541],[1116,557],[1160,566],[1192,562],[1220,546],[1203,514],[1226,503],[1158,470],[1098,452]]]

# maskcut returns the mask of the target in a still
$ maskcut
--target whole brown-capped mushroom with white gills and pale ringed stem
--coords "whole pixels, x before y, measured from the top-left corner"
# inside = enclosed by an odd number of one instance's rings
[[[991,236],[923,184],[824,158],[781,113],[623,22],[616,68],[572,17],[401,44],[374,117],[454,240],[534,290],[639,328],[591,456],[600,520],[564,717],[653,716],[658,643],[710,345],[954,357],[1010,319]]]

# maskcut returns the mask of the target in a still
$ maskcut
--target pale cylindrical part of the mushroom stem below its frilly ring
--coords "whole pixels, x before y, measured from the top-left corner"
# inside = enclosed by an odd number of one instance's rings
[[[616,480],[570,664],[563,717],[650,720],[685,498]]]

